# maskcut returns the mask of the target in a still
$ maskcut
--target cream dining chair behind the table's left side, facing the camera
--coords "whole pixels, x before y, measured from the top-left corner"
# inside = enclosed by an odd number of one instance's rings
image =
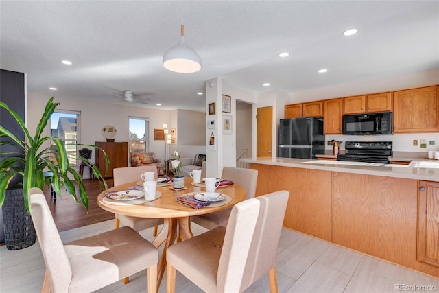
[[[141,180],[141,174],[145,172],[154,172],[154,178],[157,178],[157,166],[115,168],[112,171],[114,185],[116,186],[124,183],[130,183],[132,181],[139,181]],[[154,227],[154,236],[157,235],[157,226],[163,224],[163,219],[160,218],[137,218],[130,217],[129,215],[119,214],[116,214],[115,217],[116,228],[119,228],[120,222],[122,222],[125,226],[133,228],[137,232]]]

